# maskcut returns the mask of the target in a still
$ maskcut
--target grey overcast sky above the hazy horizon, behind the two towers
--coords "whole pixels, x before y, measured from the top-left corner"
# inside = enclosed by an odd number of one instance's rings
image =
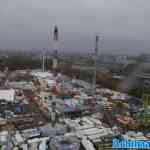
[[[0,0],[0,48],[47,48],[55,24],[62,51],[150,52],[150,0]]]

